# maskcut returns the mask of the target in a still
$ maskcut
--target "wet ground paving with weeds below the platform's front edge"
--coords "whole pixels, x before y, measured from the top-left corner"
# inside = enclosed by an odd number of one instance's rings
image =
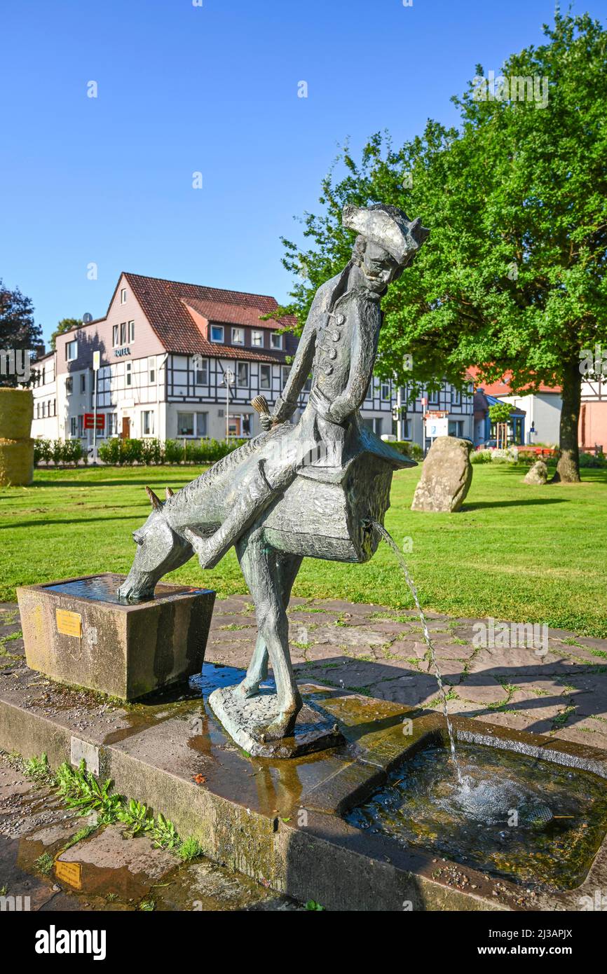
[[[127,837],[120,825],[69,844],[94,824],[0,754],[0,897],[14,897],[11,906],[21,910],[51,912],[303,909],[208,859],[181,863],[145,836]]]

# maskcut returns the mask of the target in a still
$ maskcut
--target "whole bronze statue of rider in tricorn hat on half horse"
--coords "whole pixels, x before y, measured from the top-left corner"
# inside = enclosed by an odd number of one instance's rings
[[[429,231],[395,206],[346,206],[343,224],[358,232],[352,260],[315,296],[285,389],[274,412],[258,396],[263,432],[162,503],[146,488],[152,512],[133,533],[137,551],[119,589],[147,598],[156,583],[194,553],[213,567],[234,544],[257,619],[257,641],[238,687],[209,703],[231,735],[258,755],[296,753],[302,708],[293,677],[286,607],[305,556],[364,562],[374,553],[390,505],[395,469],[413,462],[360,421],[381,327],[380,298],[410,264]],[[310,372],[308,404],[289,421]],[[276,693],[260,691],[272,664]],[[314,715],[308,715],[314,724]],[[310,729],[314,731],[314,728]],[[317,729],[318,730],[318,729]],[[326,729],[306,736],[327,746]]]

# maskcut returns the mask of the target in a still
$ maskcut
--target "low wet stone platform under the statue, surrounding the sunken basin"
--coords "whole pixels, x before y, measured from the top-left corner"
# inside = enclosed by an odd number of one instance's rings
[[[434,712],[304,685],[305,701],[332,716],[344,743],[288,761],[251,759],[208,705],[213,690],[243,672],[206,664],[183,688],[126,708],[36,679],[24,662],[0,671],[0,747],[46,752],[53,767],[85,757],[115,789],[196,836],[207,856],[301,901],[332,910],[588,909],[607,882],[600,844],[575,889],[494,876],[432,849],[369,834],[346,818],[420,751],[444,743]],[[551,737],[454,719],[459,742],[530,755],[607,777],[602,752]]]

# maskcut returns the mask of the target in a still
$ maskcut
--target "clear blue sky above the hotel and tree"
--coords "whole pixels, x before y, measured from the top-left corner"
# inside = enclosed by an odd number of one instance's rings
[[[456,121],[474,65],[542,41],[553,0],[83,0],[2,16],[0,277],[99,317],[120,271],[284,300],[282,235],[339,143]],[[582,0],[604,18],[605,0]],[[96,98],[87,96],[95,81]],[[297,96],[307,82],[308,97]],[[203,188],[192,188],[192,173]],[[88,279],[88,265],[97,280]]]

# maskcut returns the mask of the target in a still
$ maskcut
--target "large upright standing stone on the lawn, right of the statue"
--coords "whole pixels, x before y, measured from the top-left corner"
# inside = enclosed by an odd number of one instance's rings
[[[473,479],[472,443],[456,436],[437,436],[422,467],[411,510],[453,513],[464,503]]]

